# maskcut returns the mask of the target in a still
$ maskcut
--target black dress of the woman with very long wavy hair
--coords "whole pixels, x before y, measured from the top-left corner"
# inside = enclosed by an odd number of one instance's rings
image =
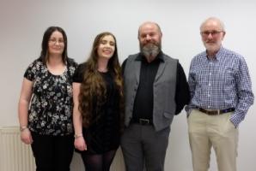
[[[78,66],[74,74],[74,82],[82,83],[85,68],[85,63]],[[90,126],[82,128],[88,148],[83,152],[87,154],[102,154],[119,147],[119,91],[113,81],[112,72],[101,73],[101,76],[107,85],[107,99],[99,111],[93,112],[94,116]],[[94,120],[94,118],[97,119]]]

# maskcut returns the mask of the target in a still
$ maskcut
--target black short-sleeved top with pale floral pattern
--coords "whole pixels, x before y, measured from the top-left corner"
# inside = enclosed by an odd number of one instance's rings
[[[40,58],[28,66],[24,77],[33,81],[28,109],[28,127],[32,132],[53,136],[73,133],[72,77],[76,67],[70,58],[60,75],[51,74]]]

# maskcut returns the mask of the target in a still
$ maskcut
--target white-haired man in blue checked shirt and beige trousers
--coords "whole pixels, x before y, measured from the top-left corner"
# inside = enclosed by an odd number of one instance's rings
[[[206,50],[192,59],[186,107],[193,170],[208,170],[213,147],[218,170],[235,171],[238,126],[253,104],[247,63],[222,47],[226,32],[219,19],[204,21],[200,33]]]

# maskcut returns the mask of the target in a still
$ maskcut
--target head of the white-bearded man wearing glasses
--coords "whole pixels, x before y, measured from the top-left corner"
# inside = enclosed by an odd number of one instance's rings
[[[215,18],[204,21],[200,27],[200,33],[208,56],[215,56],[216,52],[220,50],[225,36],[221,21]]]

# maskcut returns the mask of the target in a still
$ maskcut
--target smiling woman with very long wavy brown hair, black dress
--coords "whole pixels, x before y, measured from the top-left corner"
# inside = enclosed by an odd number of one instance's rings
[[[116,38],[102,32],[73,82],[75,147],[87,171],[107,171],[123,127],[123,79]]]

